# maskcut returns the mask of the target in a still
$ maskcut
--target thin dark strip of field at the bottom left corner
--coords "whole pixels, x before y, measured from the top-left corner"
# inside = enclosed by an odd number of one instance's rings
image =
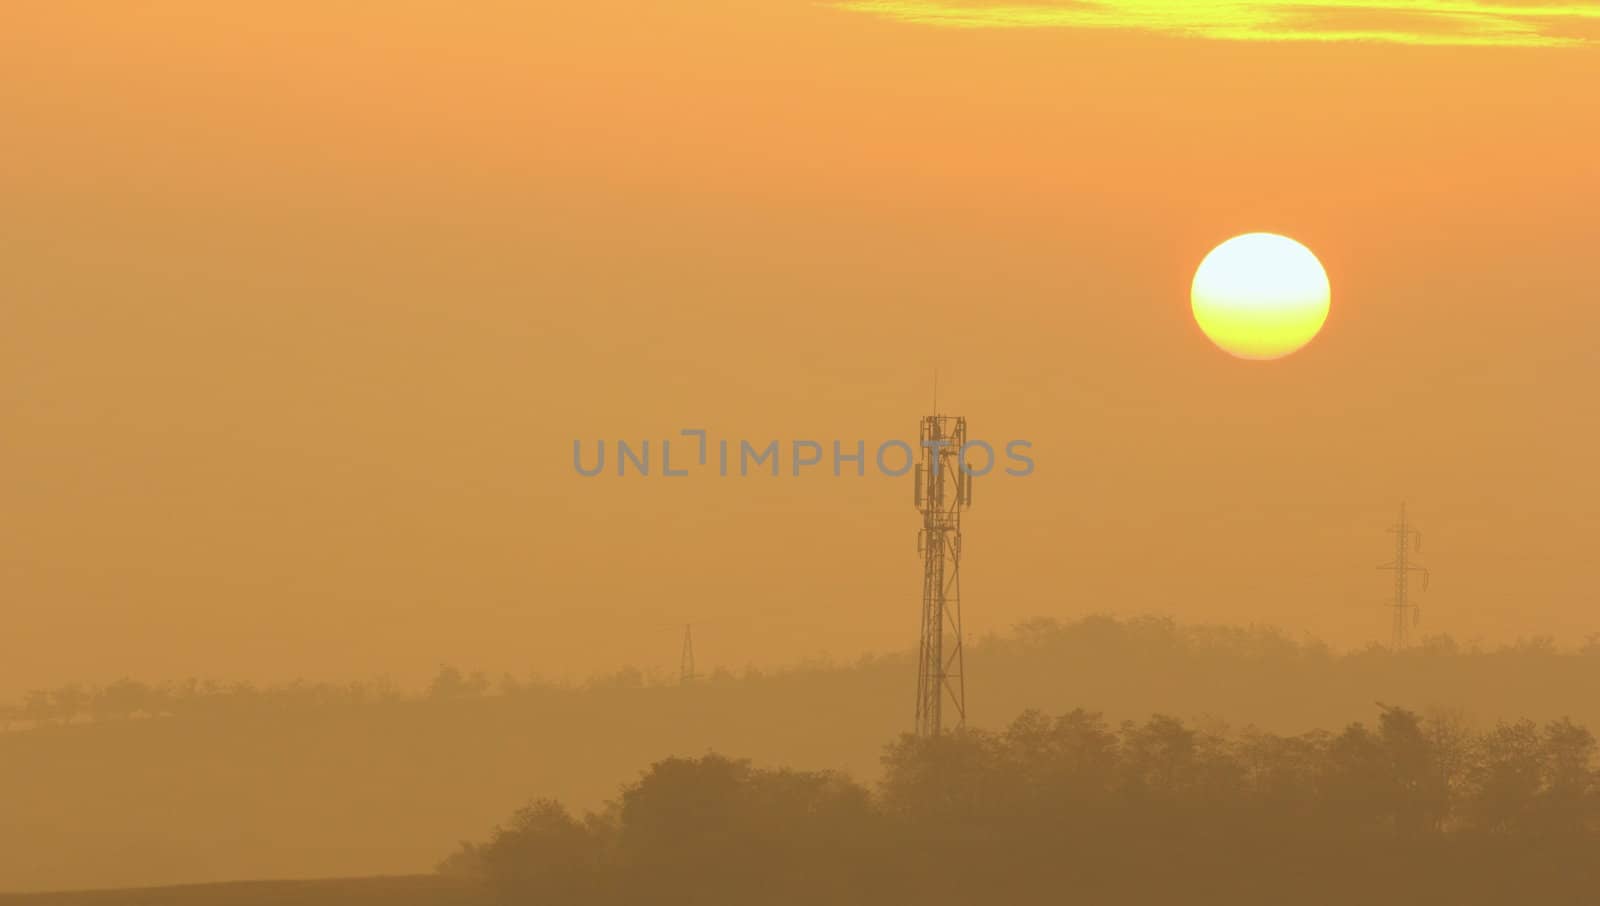
[[[0,906],[483,906],[488,901],[477,884],[426,874],[0,893]]]

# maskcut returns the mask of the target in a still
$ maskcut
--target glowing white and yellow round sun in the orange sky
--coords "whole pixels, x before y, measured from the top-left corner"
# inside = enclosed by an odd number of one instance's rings
[[[1328,272],[1286,235],[1246,232],[1211,250],[1189,301],[1211,343],[1240,359],[1282,359],[1328,320]]]

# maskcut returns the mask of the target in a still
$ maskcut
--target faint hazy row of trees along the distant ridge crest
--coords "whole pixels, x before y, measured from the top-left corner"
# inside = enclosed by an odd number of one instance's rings
[[[1542,661],[1581,659],[1592,664],[1595,682],[1600,682],[1600,634],[1584,643],[1562,650],[1554,639],[1539,635],[1509,645],[1462,645],[1450,635],[1424,637],[1416,647],[1395,656],[1381,645],[1370,645],[1349,653],[1334,653],[1315,639],[1293,639],[1275,627],[1234,627],[1213,624],[1179,624],[1170,618],[1144,616],[1117,619],[1110,616],[1086,616],[1062,623],[1056,619],[1032,619],[1018,624],[1005,635],[979,639],[971,645],[970,658],[979,664],[1022,663],[1029,658],[1058,659],[1061,663],[1125,661],[1160,658],[1163,663],[1181,658],[1237,659],[1258,664],[1318,664],[1330,669],[1362,667],[1373,661],[1397,659],[1403,664],[1422,661],[1451,661],[1472,669],[1477,663],[1523,661],[1538,669]],[[909,655],[867,656],[851,664],[813,661],[776,669],[746,667],[741,672],[715,669],[699,680],[702,687],[758,685],[766,680],[805,679],[808,674],[875,672],[909,663]],[[186,679],[181,682],[147,684],[120,679],[107,685],[67,684],[58,688],[27,692],[19,701],[0,704],[0,732],[70,725],[82,722],[126,720],[133,717],[230,717],[261,711],[314,711],[334,708],[389,706],[418,701],[458,701],[470,698],[552,698],[584,692],[643,690],[677,685],[678,679],[664,671],[622,667],[597,674],[584,682],[562,684],[541,677],[518,679],[510,674],[490,677],[483,672],[466,672],[445,664],[421,690],[405,690],[387,679],[368,682],[328,684],[294,680],[288,684],[254,685],[248,682],[218,682],[213,679]]]

